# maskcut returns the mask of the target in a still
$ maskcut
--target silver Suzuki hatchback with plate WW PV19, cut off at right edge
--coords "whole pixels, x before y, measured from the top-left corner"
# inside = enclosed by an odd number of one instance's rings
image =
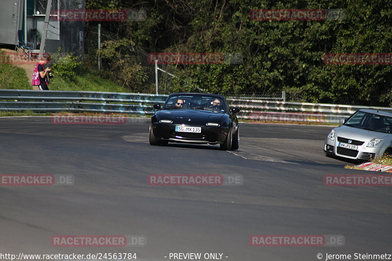
[[[366,161],[392,156],[392,113],[361,109],[342,121],[325,138],[327,156]]]

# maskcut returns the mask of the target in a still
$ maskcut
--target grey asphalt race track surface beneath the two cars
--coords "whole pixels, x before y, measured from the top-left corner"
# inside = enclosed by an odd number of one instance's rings
[[[240,129],[240,149],[227,152],[150,146],[148,119],[122,125],[0,119],[0,174],[74,175],[73,186],[0,186],[0,253],[127,252],[141,261],[170,260],[170,253],[223,253],[227,261],[392,254],[391,187],[323,185],[328,174],[369,174],[324,156],[331,127],[241,123]],[[241,174],[244,180],[241,186],[149,186],[149,174]],[[54,247],[55,235],[142,235],[147,245]],[[251,246],[251,235],[343,235],[345,243]]]

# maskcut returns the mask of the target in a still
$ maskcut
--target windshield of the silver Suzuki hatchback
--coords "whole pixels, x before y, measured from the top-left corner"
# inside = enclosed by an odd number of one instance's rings
[[[358,111],[344,125],[377,131],[382,133],[392,133],[392,117]]]

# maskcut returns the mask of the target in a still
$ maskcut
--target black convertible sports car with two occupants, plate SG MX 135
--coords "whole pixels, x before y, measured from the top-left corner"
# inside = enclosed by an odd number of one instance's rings
[[[220,144],[221,149],[238,149],[240,132],[236,113],[221,95],[174,93],[165,104],[154,104],[157,111],[151,118],[149,142]]]

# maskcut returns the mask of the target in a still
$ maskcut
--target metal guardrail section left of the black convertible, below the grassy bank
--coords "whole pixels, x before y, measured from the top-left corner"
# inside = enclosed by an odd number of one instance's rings
[[[104,92],[0,90],[0,100],[3,100],[0,101],[0,110],[153,114],[152,104],[162,103],[167,97]]]

